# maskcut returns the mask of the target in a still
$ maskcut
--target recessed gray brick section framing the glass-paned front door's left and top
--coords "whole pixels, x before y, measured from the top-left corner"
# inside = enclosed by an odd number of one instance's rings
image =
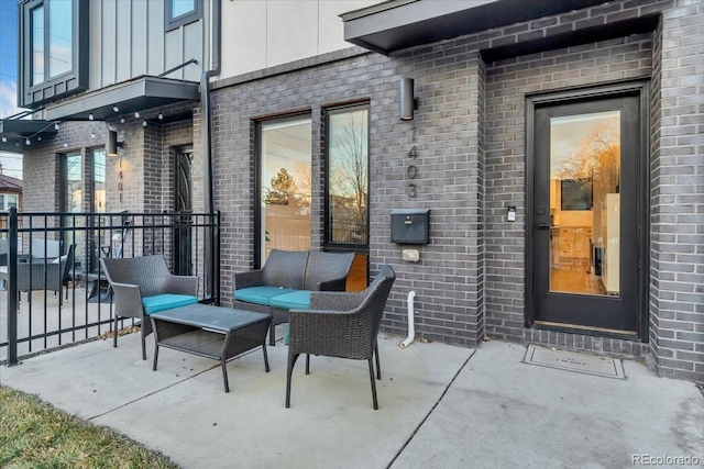
[[[644,345],[524,327],[526,223],[526,94],[648,78],[650,34],[521,56],[487,66],[486,316],[487,334],[591,351],[641,356]],[[516,222],[506,221],[517,206]]]

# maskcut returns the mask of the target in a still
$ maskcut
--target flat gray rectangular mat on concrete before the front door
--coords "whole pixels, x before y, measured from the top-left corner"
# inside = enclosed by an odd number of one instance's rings
[[[524,364],[541,367],[576,371],[585,375],[626,379],[624,364],[620,359],[575,354],[572,351],[552,350],[529,345]]]

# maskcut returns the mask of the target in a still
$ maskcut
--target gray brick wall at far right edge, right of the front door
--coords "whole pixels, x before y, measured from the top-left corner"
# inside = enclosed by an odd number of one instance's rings
[[[704,379],[704,3],[656,32],[650,345],[660,375]]]

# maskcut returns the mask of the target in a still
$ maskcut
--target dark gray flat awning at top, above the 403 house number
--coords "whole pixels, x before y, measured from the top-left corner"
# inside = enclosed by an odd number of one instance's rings
[[[389,55],[396,51],[503,27],[607,0],[389,0],[343,13],[344,40]]]

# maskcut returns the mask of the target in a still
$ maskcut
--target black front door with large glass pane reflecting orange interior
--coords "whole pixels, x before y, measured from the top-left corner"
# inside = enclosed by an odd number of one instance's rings
[[[535,109],[537,321],[638,331],[639,102],[627,96]]]

